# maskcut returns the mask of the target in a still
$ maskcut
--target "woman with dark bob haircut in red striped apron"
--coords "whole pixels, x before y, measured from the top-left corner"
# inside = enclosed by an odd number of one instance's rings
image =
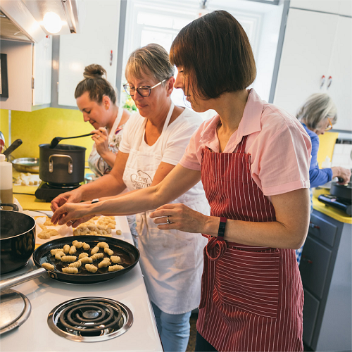
[[[303,351],[303,289],[295,249],[309,224],[310,139],[289,113],[247,89],[256,66],[243,28],[225,11],[194,20],[170,51],[197,112],[217,112],[155,187],[92,205],[65,204],[53,221],[157,208],[161,230],[201,233],[196,351]],[[210,216],[170,203],[201,180]],[[297,220],[299,219],[299,220]]]

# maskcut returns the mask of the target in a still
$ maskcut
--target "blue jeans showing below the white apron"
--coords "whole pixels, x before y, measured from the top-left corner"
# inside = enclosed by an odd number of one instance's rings
[[[158,332],[164,351],[186,351],[189,340],[189,330],[191,329],[191,325],[189,324],[191,312],[168,314],[159,309],[153,302],[151,302],[151,306],[154,310],[156,325],[158,326]]]

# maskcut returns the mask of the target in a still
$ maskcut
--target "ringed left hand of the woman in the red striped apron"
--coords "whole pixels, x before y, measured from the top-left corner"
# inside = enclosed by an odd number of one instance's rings
[[[158,225],[160,230],[180,230],[191,233],[203,232],[206,220],[209,218],[182,203],[165,204],[153,211],[150,216],[152,219],[156,218],[154,223],[163,224]],[[166,223],[167,220],[170,224]]]

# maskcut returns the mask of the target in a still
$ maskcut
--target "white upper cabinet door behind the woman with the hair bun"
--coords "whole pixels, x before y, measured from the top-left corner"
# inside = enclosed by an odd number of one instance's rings
[[[108,81],[115,87],[120,0],[85,1],[84,7],[80,33],[60,37],[59,106],[77,106],[75,88],[84,78],[84,67],[92,63],[105,68]]]

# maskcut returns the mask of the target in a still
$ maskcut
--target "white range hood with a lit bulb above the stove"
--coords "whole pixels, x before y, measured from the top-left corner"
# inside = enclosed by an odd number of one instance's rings
[[[46,35],[78,33],[82,5],[82,0],[1,0],[0,37],[37,43]],[[61,30],[53,33],[44,27],[46,13],[58,15]]]

